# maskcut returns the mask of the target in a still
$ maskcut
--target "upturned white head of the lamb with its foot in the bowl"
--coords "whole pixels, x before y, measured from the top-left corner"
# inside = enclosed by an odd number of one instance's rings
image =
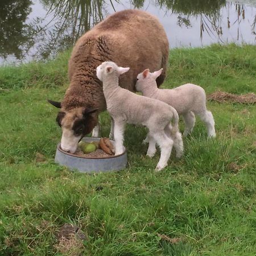
[[[118,67],[118,65],[115,64],[113,61],[105,61],[97,67],[96,74],[98,79],[102,81],[105,76],[114,74],[119,77],[123,73],[129,71],[129,69],[130,68]]]

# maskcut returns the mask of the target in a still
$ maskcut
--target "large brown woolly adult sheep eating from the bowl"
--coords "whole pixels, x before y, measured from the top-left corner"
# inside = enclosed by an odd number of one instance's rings
[[[60,108],[56,121],[63,132],[61,148],[73,153],[85,134],[93,130],[93,136],[98,136],[98,113],[106,110],[102,83],[96,76],[98,65],[114,61],[119,66],[130,67],[129,72],[119,78],[119,85],[135,91],[137,75],[146,68],[152,71],[163,68],[156,80],[158,86],[162,84],[168,54],[163,26],[154,16],[141,10],[112,14],[81,36],[69,59],[69,87],[64,100],[49,100]]]

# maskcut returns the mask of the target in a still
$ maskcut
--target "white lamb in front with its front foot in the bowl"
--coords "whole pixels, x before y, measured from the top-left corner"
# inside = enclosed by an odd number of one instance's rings
[[[172,106],[158,100],[137,95],[118,86],[118,77],[130,68],[118,67],[112,61],[105,61],[97,67],[97,77],[103,82],[107,110],[114,120],[115,155],[122,154],[123,132],[126,123],[144,125],[148,128],[149,146],[147,155],[156,152],[155,143],[160,147],[160,160],[156,171],[167,166],[172,145],[177,157],[183,154],[183,141],[179,133],[179,115]],[[171,125],[174,119],[174,126]]]

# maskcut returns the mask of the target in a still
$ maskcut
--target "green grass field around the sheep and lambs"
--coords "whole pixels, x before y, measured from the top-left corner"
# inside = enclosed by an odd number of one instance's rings
[[[163,87],[255,93],[255,49],[172,49]],[[183,158],[172,155],[159,174],[159,154],[145,156],[146,130],[134,126],[126,170],[70,172],[54,163],[61,130],[46,102],[63,98],[69,53],[0,68],[0,255],[256,255],[255,105],[208,102],[217,138],[197,119]],[[101,121],[108,136],[108,114]],[[56,232],[67,222],[86,241],[61,250]]]

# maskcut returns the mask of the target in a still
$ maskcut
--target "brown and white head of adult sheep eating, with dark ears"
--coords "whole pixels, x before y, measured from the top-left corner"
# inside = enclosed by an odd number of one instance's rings
[[[98,123],[96,108],[61,108],[61,102],[48,100],[56,108],[60,108],[56,122],[62,129],[60,147],[62,150],[75,153],[77,144],[84,135],[89,134]]]

